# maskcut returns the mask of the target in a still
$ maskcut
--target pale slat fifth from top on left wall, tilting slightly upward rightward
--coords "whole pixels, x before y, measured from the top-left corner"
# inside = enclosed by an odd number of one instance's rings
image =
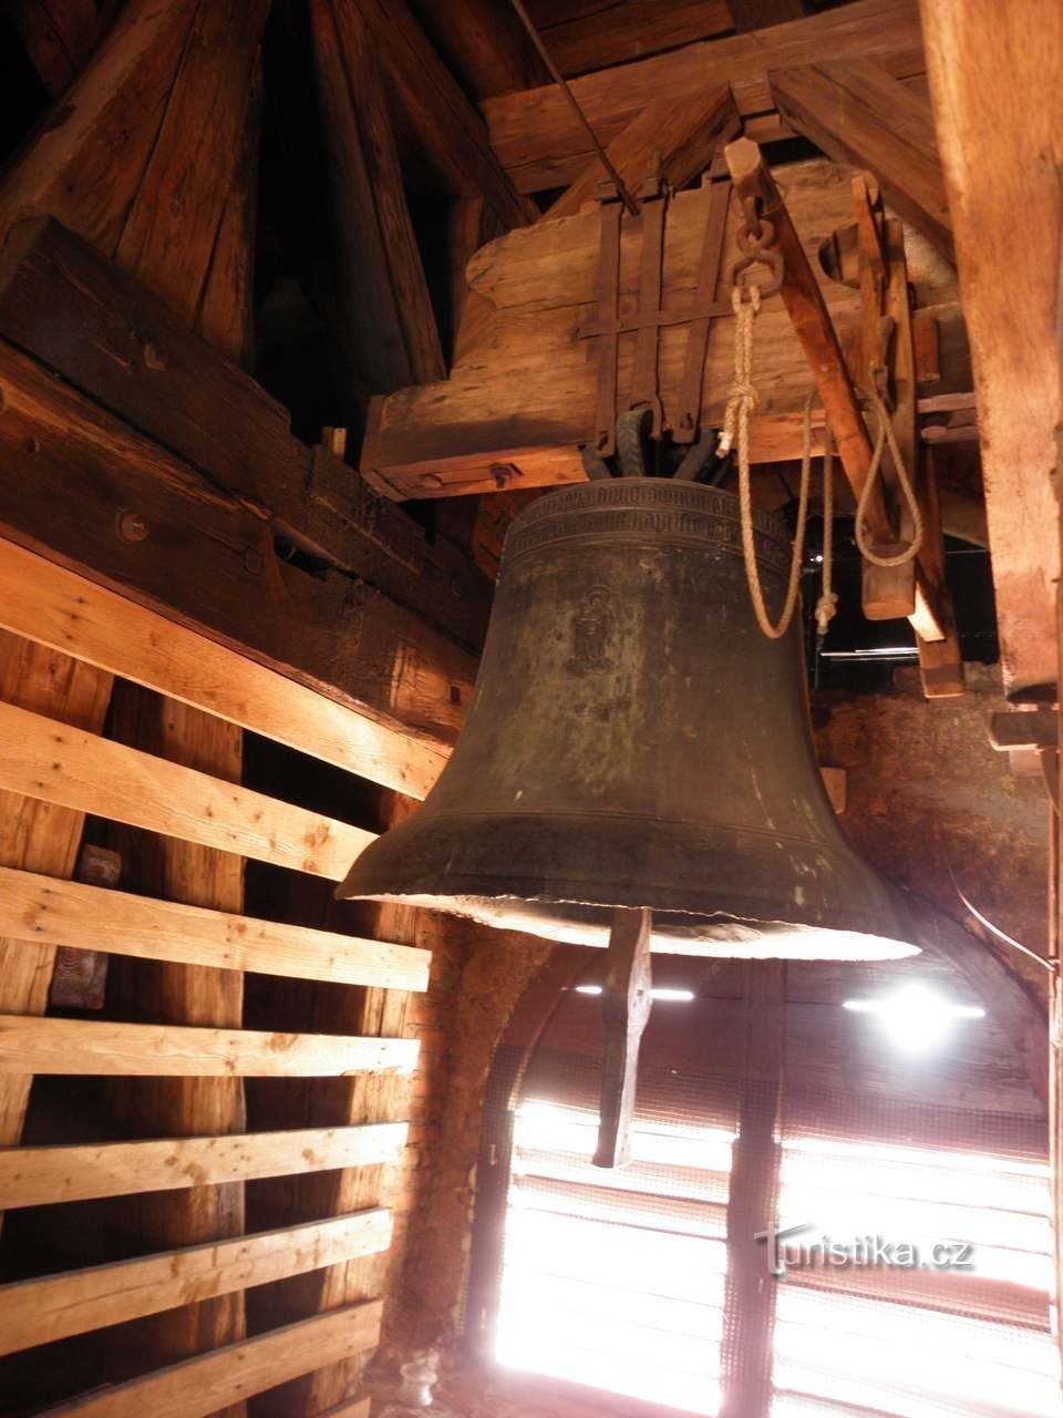
[[[405,1123],[373,1123],[142,1143],[4,1147],[0,1149],[0,1208],[217,1187],[337,1167],[374,1167],[395,1161],[405,1136]]]

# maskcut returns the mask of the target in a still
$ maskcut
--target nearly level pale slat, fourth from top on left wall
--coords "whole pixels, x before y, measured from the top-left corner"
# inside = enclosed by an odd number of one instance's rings
[[[197,1029],[0,1015],[0,1073],[109,1078],[342,1078],[408,1073],[417,1039]]]

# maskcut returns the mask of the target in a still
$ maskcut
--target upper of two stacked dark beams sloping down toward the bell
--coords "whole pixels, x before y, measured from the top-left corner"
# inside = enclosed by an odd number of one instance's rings
[[[272,526],[479,648],[488,594],[475,567],[452,547],[429,547],[353,469],[293,438],[276,400],[74,231],[35,218],[11,233],[0,335],[244,502],[264,539]],[[404,381],[428,373],[411,366]]]

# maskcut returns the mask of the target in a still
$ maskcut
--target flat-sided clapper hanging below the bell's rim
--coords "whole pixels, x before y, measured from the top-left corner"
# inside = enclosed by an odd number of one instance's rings
[[[652,917],[645,906],[618,906],[612,912],[601,993],[605,1059],[595,1167],[624,1167],[631,1161],[639,1046],[653,1005],[649,963]]]

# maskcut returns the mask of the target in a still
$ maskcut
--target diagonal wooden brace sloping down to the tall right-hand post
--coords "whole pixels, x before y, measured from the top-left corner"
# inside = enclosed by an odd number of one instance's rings
[[[839,163],[874,174],[893,210],[955,265],[934,115],[877,64],[816,64],[771,74],[782,118]]]

